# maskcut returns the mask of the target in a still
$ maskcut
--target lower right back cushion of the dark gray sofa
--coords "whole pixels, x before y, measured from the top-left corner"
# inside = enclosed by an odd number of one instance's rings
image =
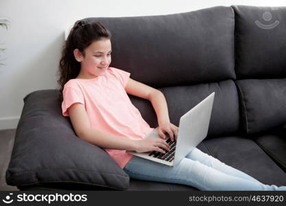
[[[238,80],[241,123],[248,133],[259,133],[286,122],[286,79]]]

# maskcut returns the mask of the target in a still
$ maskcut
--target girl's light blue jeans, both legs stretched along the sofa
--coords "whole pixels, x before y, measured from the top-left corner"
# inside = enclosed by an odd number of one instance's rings
[[[285,186],[265,185],[198,148],[174,167],[133,156],[123,170],[133,179],[190,185],[199,190],[286,190]]]

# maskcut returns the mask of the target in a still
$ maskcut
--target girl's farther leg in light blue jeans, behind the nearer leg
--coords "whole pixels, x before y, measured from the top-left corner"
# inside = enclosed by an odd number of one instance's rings
[[[215,157],[207,155],[206,153],[202,152],[198,148],[194,148],[191,152],[189,152],[186,158],[192,159],[193,161],[200,161],[200,163],[204,165],[214,168],[215,170],[219,170],[220,172],[230,174],[231,176],[237,176],[243,179],[247,179],[249,181],[259,182],[257,179],[254,179],[252,176],[249,176],[248,174],[241,172],[240,170],[237,170],[233,167],[230,167],[229,165],[226,165],[225,163],[222,163]]]

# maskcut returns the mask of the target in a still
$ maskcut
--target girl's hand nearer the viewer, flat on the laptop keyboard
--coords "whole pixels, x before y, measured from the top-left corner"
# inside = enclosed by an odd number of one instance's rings
[[[135,140],[135,151],[136,152],[150,152],[158,151],[166,153],[162,148],[169,151],[170,146],[164,139],[158,137],[150,137],[147,139]]]

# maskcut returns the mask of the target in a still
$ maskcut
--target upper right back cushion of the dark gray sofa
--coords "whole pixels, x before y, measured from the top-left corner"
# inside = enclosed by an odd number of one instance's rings
[[[286,7],[233,5],[237,78],[286,77]]]

